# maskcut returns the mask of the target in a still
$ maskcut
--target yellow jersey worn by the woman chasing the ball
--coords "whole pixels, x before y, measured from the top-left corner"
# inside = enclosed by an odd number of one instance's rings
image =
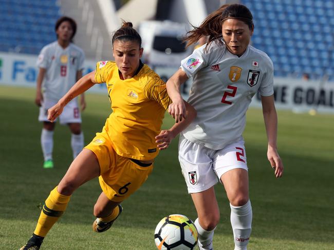
[[[154,159],[159,150],[155,136],[171,99],[163,80],[140,62],[136,74],[120,79],[115,61],[99,61],[95,81],[105,82],[113,113],[105,130],[116,153],[137,160]]]

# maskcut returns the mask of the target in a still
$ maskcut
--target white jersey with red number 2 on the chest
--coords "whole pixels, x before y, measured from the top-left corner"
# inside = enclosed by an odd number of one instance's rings
[[[273,91],[273,64],[266,53],[248,46],[238,57],[224,45],[213,42],[194,50],[181,61],[181,69],[193,77],[188,102],[197,117],[183,131],[188,140],[219,150],[242,139],[246,111],[259,91]]]

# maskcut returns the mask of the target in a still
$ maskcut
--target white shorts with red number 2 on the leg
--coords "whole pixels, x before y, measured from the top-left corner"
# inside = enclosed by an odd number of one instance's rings
[[[232,169],[248,171],[244,143],[244,140],[239,140],[224,149],[213,150],[191,142],[181,134],[179,161],[188,192],[199,193],[210,189]]]

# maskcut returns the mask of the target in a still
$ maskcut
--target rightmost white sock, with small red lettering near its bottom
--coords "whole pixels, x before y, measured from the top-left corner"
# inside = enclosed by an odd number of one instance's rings
[[[247,250],[252,230],[252,206],[250,201],[243,206],[231,206],[231,225],[234,236],[234,250]]]

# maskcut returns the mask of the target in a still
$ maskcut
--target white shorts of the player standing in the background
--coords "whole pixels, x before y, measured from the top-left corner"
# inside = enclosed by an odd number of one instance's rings
[[[48,109],[54,106],[58,101],[44,99],[42,102],[42,107],[40,107],[40,114],[38,117],[39,121],[49,121],[48,120]],[[59,116],[60,124],[66,123],[81,123],[81,114],[78,107],[77,98],[71,100],[64,107],[63,112]],[[57,121],[57,119],[55,119]]]

